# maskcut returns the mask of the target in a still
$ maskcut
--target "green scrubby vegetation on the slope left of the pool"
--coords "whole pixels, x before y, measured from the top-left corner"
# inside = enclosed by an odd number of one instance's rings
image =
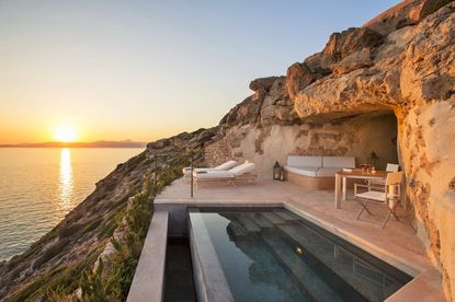
[[[56,267],[12,294],[9,300],[124,301],[152,217],[152,200],[181,176],[182,167],[187,164],[187,158],[180,156],[171,159],[157,171],[152,170],[145,177],[143,190],[130,197],[125,208],[111,214],[106,228],[100,232],[100,243],[90,249],[86,259],[77,265]],[[157,181],[155,173],[158,174]],[[83,232],[92,231],[96,224],[98,221],[94,221],[87,225]],[[114,236],[114,230],[121,235]],[[103,240],[107,237],[114,249],[103,257],[103,251],[106,251]],[[78,288],[81,294],[78,294]]]

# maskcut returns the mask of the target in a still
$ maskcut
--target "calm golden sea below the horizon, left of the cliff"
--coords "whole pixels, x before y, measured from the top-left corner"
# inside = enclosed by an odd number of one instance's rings
[[[0,149],[0,260],[52,230],[118,163],[143,149]]]

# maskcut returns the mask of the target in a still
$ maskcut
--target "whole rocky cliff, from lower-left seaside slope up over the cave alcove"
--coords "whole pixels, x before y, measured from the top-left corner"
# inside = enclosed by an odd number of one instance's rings
[[[252,160],[260,176],[268,177],[274,161],[283,162],[287,154],[349,154],[364,162],[375,151],[379,167],[400,162],[409,219],[442,271],[447,299],[455,300],[451,2],[405,1],[361,27],[334,33],[320,53],[292,65],[286,77],[252,81],[254,93],[219,126],[150,143],[100,182],[29,252],[0,266],[0,297],[104,246],[112,233],[102,235],[109,218],[125,207],[145,175],[153,173],[157,153],[193,152],[206,164]],[[57,252],[48,252],[52,248]]]

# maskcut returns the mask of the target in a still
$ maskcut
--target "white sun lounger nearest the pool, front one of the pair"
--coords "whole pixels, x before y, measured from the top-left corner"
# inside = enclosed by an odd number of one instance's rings
[[[235,185],[236,182],[255,181],[257,175],[251,173],[253,170],[253,163],[242,163],[228,171],[194,171],[193,177],[196,187],[197,184],[203,182],[228,182],[229,184]]]

